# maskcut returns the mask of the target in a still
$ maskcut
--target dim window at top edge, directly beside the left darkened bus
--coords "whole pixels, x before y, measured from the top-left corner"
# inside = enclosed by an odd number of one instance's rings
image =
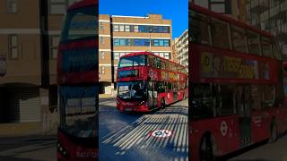
[[[50,14],[65,14],[66,4],[65,0],[49,0]]]

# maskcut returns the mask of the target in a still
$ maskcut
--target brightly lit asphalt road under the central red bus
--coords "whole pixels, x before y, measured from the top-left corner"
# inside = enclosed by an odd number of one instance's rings
[[[187,104],[188,100],[179,101],[138,114],[118,112],[115,98],[100,99],[100,160],[187,160]],[[152,136],[156,130],[171,133]],[[157,134],[167,137],[154,137]]]

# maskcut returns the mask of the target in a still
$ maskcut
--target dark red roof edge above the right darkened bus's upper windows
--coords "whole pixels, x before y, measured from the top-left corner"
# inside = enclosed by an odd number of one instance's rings
[[[258,34],[264,35],[265,37],[273,37],[273,35],[271,33],[267,32],[265,30],[258,30],[257,28],[250,26],[243,21],[237,21],[237,20],[230,18],[230,17],[228,17],[224,14],[221,14],[221,13],[214,13],[213,11],[210,11],[210,10],[208,10],[202,6],[199,6],[197,4],[189,5],[189,9],[194,10],[194,11],[199,12],[199,13],[204,13],[205,15],[209,15],[213,18],[217,18],[217,19],[222,20],[222,21],[230,22],[230,24],[233,24],[235,26],[238,26],[238,27],[246,29],[246,30],[251,30],[251,31],[257,32]]]

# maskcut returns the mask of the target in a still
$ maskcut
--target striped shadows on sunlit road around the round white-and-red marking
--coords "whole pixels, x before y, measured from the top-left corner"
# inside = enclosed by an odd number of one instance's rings
[[[110,111],[109,111],[110,112]],[[103,147],[113,148],[111,156],[123,157],[127,153],[136,151],[155,152],[160,150],[164,157],[187,157],[188,154],[188,131],[187,131],[187,106],[167,106],[149,113],[126,113],[113,111],[113,117],[133,117],[132,123],[109,131],[101,137]],[[101,128],[105,129],[104,125]],[[172,135],[168,138],[153,137],[152,131],[169,130]],[[154,150],[151,150],[154,149]],[[106,150],[104,150],[106,151]],[[107,157],[107,156],[106,156]]]

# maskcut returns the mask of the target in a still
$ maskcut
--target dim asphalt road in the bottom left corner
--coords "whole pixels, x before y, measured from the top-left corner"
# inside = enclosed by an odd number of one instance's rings
[[[0,138],[2,161],[57,160],[57,135],[30,135]]]

